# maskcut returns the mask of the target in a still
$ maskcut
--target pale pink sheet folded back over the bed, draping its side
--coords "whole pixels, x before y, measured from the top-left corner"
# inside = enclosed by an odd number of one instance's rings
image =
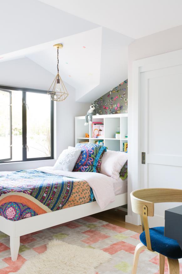
[[[107,205],[115,201],[114,183],[117,181],[116,179],[96,172],[70,172],[52,170],[52,168],[53,167],[39,167],[37,169],[45,173],[85,180],[93,189],[95,199],[101,209],[104,209]]]

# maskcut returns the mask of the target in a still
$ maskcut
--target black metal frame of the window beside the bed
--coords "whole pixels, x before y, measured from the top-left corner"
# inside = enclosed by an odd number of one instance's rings
[[[20,160],[20,161],[4,161],[4,160],[1,161],[0,160],[0,164],[54,159],[54,101],[51,101],[51,100],[50,100],[50,142],[51,142],[50,147],[51,147],[51,155],[47,156],[47,157],[27,158],[27,136],[25,134],[26,129],[27,129],[26,92],[47,94],[47,91],[46,90],[37,90],[37,89],[6,86],[6,85],[0,85],[0,89],[5,90],[5,91],[9,91],[9,90],[22,91],[22,160]]]

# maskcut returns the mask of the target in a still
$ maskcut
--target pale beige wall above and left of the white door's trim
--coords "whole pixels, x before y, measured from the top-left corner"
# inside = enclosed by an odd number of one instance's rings
[[[132,173],[132,97],[135,92],[132,88],[132,64],[133,61],[159,55],[166,52],[172,52],[182,49],[182,25],[172,29],[164,30],[143,38],[139,38],[131,43],[128,47],[128,215],[127,222],[132,222],[132,209],[130,202],[130,193],[132,192],[132,180],[130,174]]]

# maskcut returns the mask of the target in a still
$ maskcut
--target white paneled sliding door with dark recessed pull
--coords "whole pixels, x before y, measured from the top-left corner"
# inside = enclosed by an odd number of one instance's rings
[[[140,188],[182,189],[182,65],[140,77]],[[164,210],[174,206],[156,204],[150,227],[164,225]]]

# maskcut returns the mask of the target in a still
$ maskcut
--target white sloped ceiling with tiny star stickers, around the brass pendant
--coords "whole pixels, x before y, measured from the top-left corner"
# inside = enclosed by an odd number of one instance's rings
[[[132,38],[37,0],[3,1],[0,9],[1,63],[17,59],[19,66],[18,59],[28,58],[55,75],[53,45],[62,43],[60,76],[75,88],[75,100],[82,102],[95,100],[127,79],[127,46]]]

